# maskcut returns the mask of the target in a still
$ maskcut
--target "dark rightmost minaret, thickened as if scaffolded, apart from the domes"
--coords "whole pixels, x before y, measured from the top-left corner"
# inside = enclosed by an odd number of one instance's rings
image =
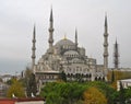
[[[116,39],[115,51],[114,51],[114,63],[115,63],[115,68],[118,69],[119,68],[119,51],[118,51],[117,39]]]

